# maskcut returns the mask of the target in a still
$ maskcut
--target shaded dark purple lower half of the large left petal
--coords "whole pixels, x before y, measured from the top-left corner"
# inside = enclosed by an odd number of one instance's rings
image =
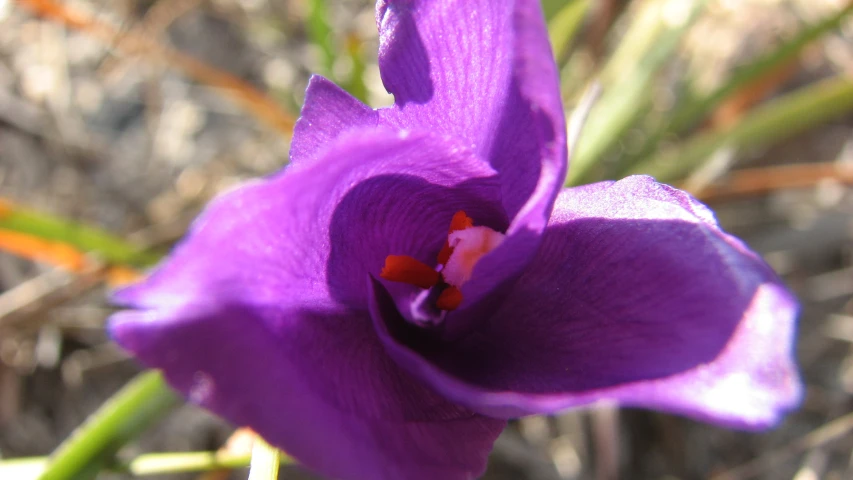
[[[211,304],[119,313],[111,334],[191,401],[323,475],[463,480],[485,469],[505,422],[400,370],[363,314],[198,301]]]

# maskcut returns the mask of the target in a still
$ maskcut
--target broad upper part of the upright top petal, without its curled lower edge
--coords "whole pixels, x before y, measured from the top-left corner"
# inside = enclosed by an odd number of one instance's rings
[[[397,106],[380,113],[458,135],[506,169],[514,214],[537,183],[544,144],[565,143],[539,2],[380,0],[376,20],[382,80]]]

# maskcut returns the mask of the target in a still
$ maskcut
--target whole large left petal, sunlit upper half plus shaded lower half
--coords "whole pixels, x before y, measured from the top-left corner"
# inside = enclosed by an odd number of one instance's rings
[[[356,131],[316,162],[215,200],[147,280],[115,340],[172,385],[339,478],[470,478],[502,421],[390,360],[366,280],[435,254],[460,209],[505,222],[494,171],[428,134]]]

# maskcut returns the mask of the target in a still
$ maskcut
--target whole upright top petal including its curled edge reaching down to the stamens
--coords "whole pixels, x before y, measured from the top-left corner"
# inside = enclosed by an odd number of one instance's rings
[[[382,79],[396,100],[380,115],[469,142],[499,172],[513,219],[448,321],[446,335],[460,336],[532,259],[565,177],[565,119],[545,24],[536,0],[386,0],[377,23]]]

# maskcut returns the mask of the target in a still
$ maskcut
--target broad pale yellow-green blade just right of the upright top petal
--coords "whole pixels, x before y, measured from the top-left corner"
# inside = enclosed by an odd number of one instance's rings
[[[629,28],[602,71],[604,94],[590,113],[584,136],[572,159],[567,183],[583,183],[592,169],[646,111],[652,82],[670,59],[684,33],[705,6],[705,0],[685,3],[684,16],[673,22],[663,8],[672,5],[649,1]]]

